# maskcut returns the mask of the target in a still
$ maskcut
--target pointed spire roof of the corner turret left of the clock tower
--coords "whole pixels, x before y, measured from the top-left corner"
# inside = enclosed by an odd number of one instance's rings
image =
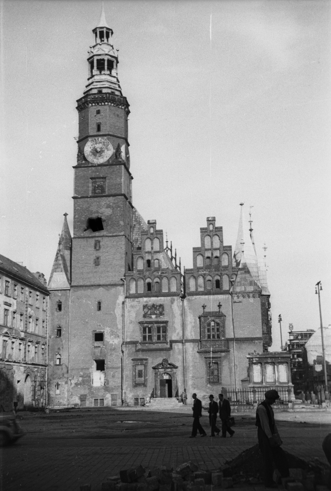
[[[49,276],[48,290],[67,290],[71,284],[71,233],[64,214],[64,222],[57,246],[57,251]]]

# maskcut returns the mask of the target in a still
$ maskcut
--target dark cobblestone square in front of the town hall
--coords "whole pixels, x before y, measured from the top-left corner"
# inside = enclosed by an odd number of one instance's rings
[[[288,416],[281,414],[277,414],[277,425],[284,449],[298,457],[318,457],[326,462],[321,442],[331,432],[330,414],[316,417],[316,422],[298,414],[282,421]],[[48,415],[19,413],[19,418],[21,415],[19,422],[26,435],[2,449],[1,491],[76,491],[85,483],[99,491],[107,476],[138,464],[176,467],[194,460],[202,469],[213,470],[257,443],[253,414],[236,415],[236,434],[226,439],[189,439],[192,418],[187,410],[163,413],[104,408]],[[309,422],[304,422],[306,419]],[[201,423],[209,433],[207,415]]]

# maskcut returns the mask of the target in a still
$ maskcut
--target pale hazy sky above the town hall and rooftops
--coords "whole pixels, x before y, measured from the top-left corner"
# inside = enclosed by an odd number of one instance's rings
[[[273,350],[288,324],[331,323],[330,1],[105,1],[130,103],[133,204],[182,265],[239,203],[267,246]],[[2,0],[0,253],[47,279],[72,231],[75,101],[101,1]]]

